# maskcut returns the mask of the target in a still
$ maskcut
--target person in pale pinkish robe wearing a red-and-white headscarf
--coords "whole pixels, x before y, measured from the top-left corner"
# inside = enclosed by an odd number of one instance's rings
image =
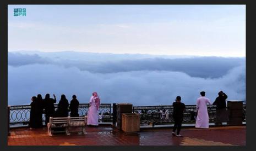
[[[97,126],[98,124],[98,111],[100,108],[100,97],[97,92],[93,92],[89,102],[89,111],[87,113],[87,125]]]

